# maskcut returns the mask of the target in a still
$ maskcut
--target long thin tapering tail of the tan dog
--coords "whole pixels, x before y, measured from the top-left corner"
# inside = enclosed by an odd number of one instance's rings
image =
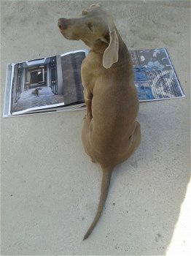
[[[111,177],[112,177],[112,169],[113,168],[103,168],[103,176],[102,176],[102,181],[101,181],[101,195],[100,195],[100,200],[99,200],[99,204],[98,204],[98,210],[97,213],[95,214],[95,218],[93,219],[92,224],[90,225],[89,229],[87,230],[87,233],[85,234],[85,237],[83,240],[87,239],[88,236],[90,236],[90,233],[92,233],[93,228],[95,227],[95,225],[98,222],[98,219],[101,217],[101,212],[104,208],[104,203],[106,201],[106,197],[108,194],[108,190],[109,190],[109,184],[111,181]]]

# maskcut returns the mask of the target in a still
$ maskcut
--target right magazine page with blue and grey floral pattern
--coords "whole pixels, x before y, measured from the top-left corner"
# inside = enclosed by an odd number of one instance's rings
[[[185,97],[165,48],[130,50],[130,56],[139,102]]]

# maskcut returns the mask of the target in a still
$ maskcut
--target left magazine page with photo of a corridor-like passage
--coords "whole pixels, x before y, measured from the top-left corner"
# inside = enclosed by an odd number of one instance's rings
[[[75,50],[61,56],[9,64],[4,116],[69,105],[72,108],[83,103],[80,75],[83,59],[85,50]]]

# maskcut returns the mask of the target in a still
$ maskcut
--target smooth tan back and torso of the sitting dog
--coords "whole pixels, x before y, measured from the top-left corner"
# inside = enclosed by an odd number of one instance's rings
[[[82,141],[87,154],[102,166],[117,165],[128,159],[139,144],[136,115],[139,100],[133,80],[130,55],[123,42],[122,55],[110,69],[105,69],[97,53],[89,53],[82,64],[82,82],[88,78],[93,94],[90,124],[85,124]],[[93,85],[93,86],[91,86]],[[136,134],[133,133],[136,131]]]

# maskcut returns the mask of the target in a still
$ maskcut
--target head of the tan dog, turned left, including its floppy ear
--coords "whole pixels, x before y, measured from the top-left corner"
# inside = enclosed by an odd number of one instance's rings
[[[99,4],[82,10],[79,18],[60,18],[58,27],[66,39],[81,39],[93,52],[103,53],[103,66],[106,69],[118,61],[117,31],[112,16]]]

